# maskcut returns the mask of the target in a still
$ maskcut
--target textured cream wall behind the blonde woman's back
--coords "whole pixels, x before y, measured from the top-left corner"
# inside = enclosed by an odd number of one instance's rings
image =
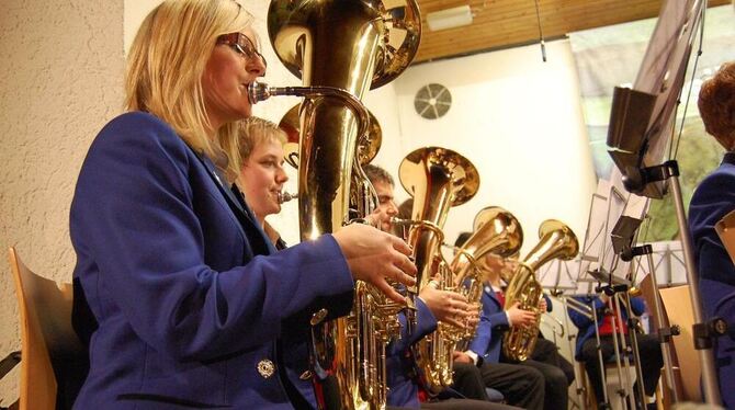
[[[87,147],[120,113],[123,1],[4,0],[0,12],[0,356],[20,348],[5,249],[71,281],[71,195]],[[2,405],[18,397],[14,371]]]

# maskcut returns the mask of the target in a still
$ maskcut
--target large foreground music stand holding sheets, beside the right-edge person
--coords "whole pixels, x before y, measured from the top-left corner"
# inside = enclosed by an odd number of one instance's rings
[[[633,88],[614,90],[608,146],[610,156],[623,174],[625,189],[631,193],[663,198],[666,193],[665,183],[669,183],[691,289],[696,322],[694,345],[698,346],[702,363],[704,398],[710,405],[721,405],[712,355],[712,335],[703,323],[699,275],[681,200],[679,169],[675,160],[663,162],[693,37],[698,30],[703,30],[700,23],[705,8],[705,0],[664,3]]]

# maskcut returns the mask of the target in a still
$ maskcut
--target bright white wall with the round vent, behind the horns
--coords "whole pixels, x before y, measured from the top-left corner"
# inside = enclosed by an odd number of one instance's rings
[[[540,223],[557,218],[584,240],[596,178],[579,105],[576,68],[566,41],[528,46],[409,68],[392,84],[396,101],[383,95],[387,124],[375,162],[397,176],[400,160],[423,146],[440,146],[465,156],[478,169],[480,187],[465,205],[450,210],[444,227],[453,241],[472,230],[475,214],[499,205],[524,228],[524,252],[536,242]],[[423,86],[441,83],[452,107],[438,119],[414,109]],[[374,102],[368,99],[369,106]],[[396,110],[397,107],[397,110]],[[392,113],[398,114],[398,127]],[[407,194],[397,182],[397,196]]]

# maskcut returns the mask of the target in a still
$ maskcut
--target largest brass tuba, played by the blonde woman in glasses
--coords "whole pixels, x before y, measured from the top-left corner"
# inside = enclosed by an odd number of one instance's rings
[[[279,59],[305,87],[251,87],[252,101],[304,95],[299,109],[298,213],[302,240],[340,229],[348,207],[357,138],[370,116],[360,98],[400,75],[418,49],[415,0],[272,0],[268,31]],[[320,402],[341,409],[385,407],[386,317],[372,286],[355,283],[340,319],[314,317],[313,360]],[[381,295],[382,296],[382,295]],[[328,383],[320,376],[330,375]]]

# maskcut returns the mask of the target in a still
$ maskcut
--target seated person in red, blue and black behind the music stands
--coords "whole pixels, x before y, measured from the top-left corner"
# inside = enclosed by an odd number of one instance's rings
[[[631,345],[629,334],[630,330],[627,328],[629,312],[627,309],[625,309],[625,307],[621,304],[620,316],[622,317],[622,321],[615,320],[618,318],[615,304],[613,304],[613,300],[604,293],[599,297],[575,297],[575,299],[589,306],[597,312],[598,323],[597,328],[595,328],[593,318],[585,316],[577,310],[568,309],[569,318],[574,324],[579,328],[575,358],[585,364],[587,376],[589,377],[590,384],[595,389],[595,397],[598,401],[598,408],[602,408],[602,406],[606,406],[603,400],[604,396],[602,392],[603,380],[601,372],[603,372],[603,369],[600,369],[600,362],[597,352],[597,338],[595,337],[595,332],[597,331],[600,334],[600,351],[602,354],[602,361],[607,362],[613,357],[615,353],[613,329],[618,331],[619,337],[624,335],[627,345]],[[645,311],[643,299],[641,297],[631,298],[631,309],[633,310],[634,315],[642,315]],[[656,337],[643,333],[637,334],[637,342],[641,357],[641,371],[643,373],[644,390],[647,396],[653,396],[653,394],[656,391],[656,385],[658,384],[660,368],[664,365],[660,344]],[[637,392],[637,388],[634,389],[634,391]]]

